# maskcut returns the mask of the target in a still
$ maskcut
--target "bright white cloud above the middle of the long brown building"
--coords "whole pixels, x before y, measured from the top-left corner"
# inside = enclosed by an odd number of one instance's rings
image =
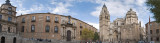
[[[56,7],[53,8],[53,10],[51,11],[52,13],[57,13],[57,14],[75,14],[73,12],[70,12],[70,9],[68,7],[72,7],[72,2],[73,0],[68,0],[65,1],[65,3],[63,2],[56,2],[55,0],[52,0],[52,5],[55,5]]]

